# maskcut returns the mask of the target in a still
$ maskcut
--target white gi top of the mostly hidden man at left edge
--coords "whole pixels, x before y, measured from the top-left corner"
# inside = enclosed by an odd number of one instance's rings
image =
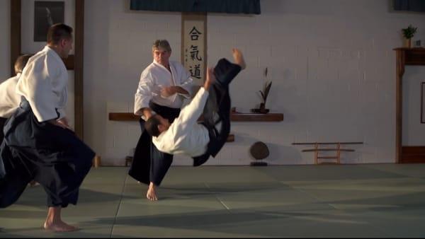
[[[21,103],[21,95],[18,95],[15,91],[19,76],[21,76],[21,73],[0,84],[0,117],[11,117]]]

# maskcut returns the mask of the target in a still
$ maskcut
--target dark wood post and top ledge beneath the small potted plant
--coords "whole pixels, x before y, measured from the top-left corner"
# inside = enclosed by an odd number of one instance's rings
[[[425,48],[395,48],[395,162],[402,163],[403,84],[406,65],[425,65]]]

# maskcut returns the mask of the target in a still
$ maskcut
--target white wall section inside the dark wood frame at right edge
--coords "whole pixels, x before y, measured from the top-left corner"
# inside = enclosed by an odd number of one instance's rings
[[[425,145],[425,124],[421,124],[421,83],[425,66],[406,66],[403,76],[403,146]]]

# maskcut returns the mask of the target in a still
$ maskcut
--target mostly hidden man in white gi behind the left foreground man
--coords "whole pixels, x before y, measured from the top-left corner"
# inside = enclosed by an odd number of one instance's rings
[[[6,119],[11,117],[16,108],[19,107],[19,103],[21,103],[21,95],[16,93],[16,83],[18,83],[22,70],[30,57],[29,54],[19,56],[14,65],[16,76],[0,83],[0,144],[4,138],[3,127]]]

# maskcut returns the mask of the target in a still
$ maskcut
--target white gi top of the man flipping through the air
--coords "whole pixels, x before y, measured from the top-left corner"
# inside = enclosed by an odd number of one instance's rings
[[[184,153],[191,157],[201,156],[207,151],[210,136],[208,129],[198,124],[198,118],[203,113],[208,91],[201,87],[195,97],[174,119],[169,129],[152,137],[152,142],[159,151],[164,153]]]

